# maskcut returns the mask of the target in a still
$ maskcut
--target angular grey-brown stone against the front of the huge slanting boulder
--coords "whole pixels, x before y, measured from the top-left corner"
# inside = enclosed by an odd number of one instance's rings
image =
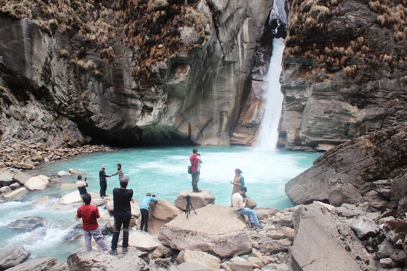
[[[352,184],[344,182],[341,178],[331,178],[328,181],[328,200],[335,207],[339,207],[343,203],[364,202],[358,189]]]

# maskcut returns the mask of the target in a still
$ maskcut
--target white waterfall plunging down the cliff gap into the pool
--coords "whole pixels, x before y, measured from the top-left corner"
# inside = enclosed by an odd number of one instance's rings
[[[263,99],[266,100],[265,113],[260,125],[258,146],[267,150],[275,150],[278,139],[277,128],[279,125],[282,109],[283,95],[281,93],[280,74],[282,72],[282,51],[284,50],[284,40],[273,39],[273,53],[268,68],[267,80],[265,81],[265,93]]]

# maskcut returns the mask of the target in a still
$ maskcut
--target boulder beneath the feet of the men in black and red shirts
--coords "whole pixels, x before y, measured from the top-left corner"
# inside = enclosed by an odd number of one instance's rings
[[[70,271],[149,271],[150,266],[140,257],[147,253],[135,248],[129,248],[126,255],[113,256],[100,252],[78,252],[68,256],[66,263]]]

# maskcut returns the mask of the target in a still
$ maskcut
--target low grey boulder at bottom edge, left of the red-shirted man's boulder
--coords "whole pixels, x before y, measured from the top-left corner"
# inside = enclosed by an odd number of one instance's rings
[[[62,263],[57,258],[46,257],[24,262],[7,271],[69,271],[66,263]]]

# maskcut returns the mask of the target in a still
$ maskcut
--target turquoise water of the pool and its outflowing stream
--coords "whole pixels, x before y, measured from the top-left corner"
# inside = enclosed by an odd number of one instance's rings
[[[266,151],[244,147],[197,147],[203,164],[198,182],[200,189],[207,189],[216,197],[215,205],[230,205],[235,168],[243,171],[247,196],[257,202],[258,207],[274,207],[282,210],[291,207],[284,193],[284,184],[313,165],[321,153]],[[189,156],[193,147],[152,147],[122,149],[120,151],[86,154],[42,166],[28,172],[31,175],[44,174],[56,177],[60,170],[74,168],[84,172],[83,178],[89,181],[88,191],[99,192],[99,170],[106,166],[106,173],[117,171],[116,164],[121,163],[125,176],[130,177],[128,188],[134,190],[134,199],[138,202],[146,192],[158,195],[159,199],[174,202],[182,190],[192,189],[191,177],[187,173]],[[119,186],[118,175],[107,178],[107,194]],[[25,202],[7,202],[0,204],[0,244],[20,243],[31,252],[33,257],[54,256],[63,262],[83,244],[79,241],[61,241],[62,237],[75,223],[76,210],[50,211],[46,207],[31,207],[33,200],[50,194],[66,195],[77,191],[77,176],[61,179],[44,191],[31,192]],[[105,211],[100,209],[99,211]],[[7,225],[19,217],[42,216],[47,226],[30,233],[18,233]],[[108,245],[110,245],[108,238]]]

